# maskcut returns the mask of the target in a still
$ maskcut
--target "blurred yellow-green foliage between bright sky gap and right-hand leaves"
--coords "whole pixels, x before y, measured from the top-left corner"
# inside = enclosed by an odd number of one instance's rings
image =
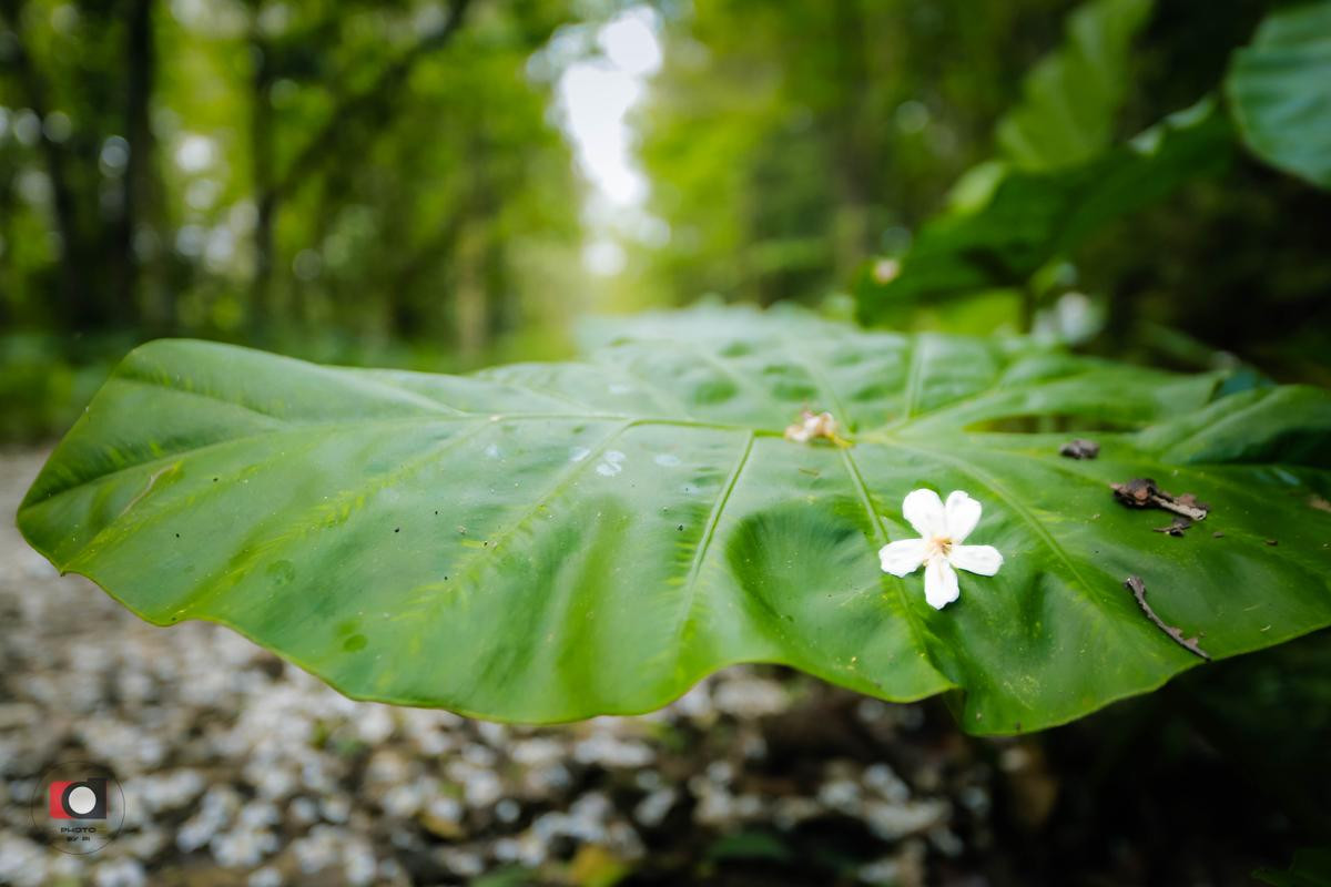
[[[980,160],[1065,1],[693,4],[639,113],[647,238],[626,299],[816,301]],[[965,64],[957,64],[960,59]]]

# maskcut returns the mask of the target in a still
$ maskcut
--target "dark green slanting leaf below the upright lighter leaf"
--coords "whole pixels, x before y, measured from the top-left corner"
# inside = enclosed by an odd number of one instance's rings
[[[896,278],[878,283],[869,271],[861,275],[860,318],[876,323],[920,298],[1024,286],[1109,223],[1223,169],[1230,154],[1229,122],[1207,98],[1090,162],[1005,170],[988,199],[929,221]]]

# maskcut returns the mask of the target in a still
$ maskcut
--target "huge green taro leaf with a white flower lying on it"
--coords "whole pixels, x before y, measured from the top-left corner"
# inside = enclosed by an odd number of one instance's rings
[[[961,690],[976,733],[1044,727],[1201,662],[1131,574],[1215,658],[1331,624],[1324,391],[1215,399],[1214,375],[803,315],[651,330],[470,376],[154,342],[19,525],[153,622],[224,622],[358,698],[519,721],[644,711],[764,661],[886,699]],[[855,444],[784,440],[805,406]],[[1091,428],[1098,459],[1058,455]],[[1206,532],[1151,532],[1114,503],[1130,477],[1207,501]],[[944,610],[876,555],[914,535],[917,487],[976,496],[972,540],[1006,557]]]

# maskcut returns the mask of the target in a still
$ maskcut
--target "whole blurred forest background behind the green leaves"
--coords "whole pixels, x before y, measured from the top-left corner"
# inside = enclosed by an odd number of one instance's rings
[[[1268,7],[1159,4],[1105,138],[1214,90]],[[60,434],[164,335],[465,370],[558,356],[592,311],[848,314],[1073,8],[0,0],[0,438]],[[1079,245],[1041,317],[892,323],[1326,383],[1328,239],[1324,193],[1236,156]]]

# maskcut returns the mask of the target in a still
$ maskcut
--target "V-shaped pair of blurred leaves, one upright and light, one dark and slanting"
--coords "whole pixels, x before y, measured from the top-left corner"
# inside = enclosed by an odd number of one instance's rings
[[[1131,39],[1149,0],[1093,0],[1069,16],[1065,44],[1026,74],[1022,100],[996,128],[998,157],[953,186],[909,253],[861,270],[858,317],[908,320],[924,301],[1018,291],[1029,330],[1036,274],[1089,235],[1225,164],[1225,130],[1209,102],[1114,148],[1131,84]]]

